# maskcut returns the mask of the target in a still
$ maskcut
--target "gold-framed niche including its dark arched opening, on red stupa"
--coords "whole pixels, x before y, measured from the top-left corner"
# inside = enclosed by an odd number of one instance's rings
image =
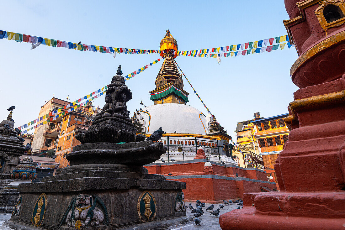
[[[319,7],[315,14],[322,28],[337,27],[345,22],[345,2],[344,0],[323,0],[319,2]]]

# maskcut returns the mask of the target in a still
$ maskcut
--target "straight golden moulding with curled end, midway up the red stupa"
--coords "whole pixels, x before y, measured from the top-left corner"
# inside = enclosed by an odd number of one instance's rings
[[[303,109],[303,108],[315,108],[318,106],[326,105],[326,104],[335,104],[339,101],[345,101],[345,90],[335,92],[335,93],[327,93],[319,96],[313,96],[304,99],[298,99],[293,102],[290,102],[289,108],[291,111],[291,115],[284,118],[284,122],[287,124],[292,124],[295,121],[298,121],[296,110]]]

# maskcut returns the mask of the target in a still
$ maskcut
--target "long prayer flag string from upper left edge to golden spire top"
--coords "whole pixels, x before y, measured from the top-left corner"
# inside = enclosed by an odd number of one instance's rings
[[[10,31],[0,30],[0,39],[7,38],[8,40],[15,40],[17,42],[28,42],[32,44],[43,44],[46,46],[51,47],[61,47],[67,49],[75,49],[80,51],[93,51],[93,52],[101,52],[101,53],[125,53],[125,54],[146,54],[146,53],[165,53],[163,50],[143,50],[143,49],[131,49],[131,48],[117,48],[117,47],[107,47],[107,46],[93,46],[88,44],[77,44],[73,42],[67,41],[59,41],[50,38],[42,38],[32,35],[26,35],[21,33],[14,33]],[[35,47],[36,48],[36,47]],[[115,56],[114,56],[115,57]]]

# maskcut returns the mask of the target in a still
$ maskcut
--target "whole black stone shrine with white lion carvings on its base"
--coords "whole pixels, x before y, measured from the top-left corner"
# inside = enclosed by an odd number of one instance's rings
[[[164,154],[160,142],[136,134],[126,102],[131,91],[121,67],[106,90],[106,104],[82,143],[67,155],[70,166],[42,183],[19,184],[18,215],[2,229],[166,229],[184,228],[184,182],[148,174],[142,167]]]

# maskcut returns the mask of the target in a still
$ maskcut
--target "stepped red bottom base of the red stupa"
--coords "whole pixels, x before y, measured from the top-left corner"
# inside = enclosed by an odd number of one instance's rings
[[[246,193],[243,209],[219,217],[223,230],[338,230],[345,223],[345,192]]]

